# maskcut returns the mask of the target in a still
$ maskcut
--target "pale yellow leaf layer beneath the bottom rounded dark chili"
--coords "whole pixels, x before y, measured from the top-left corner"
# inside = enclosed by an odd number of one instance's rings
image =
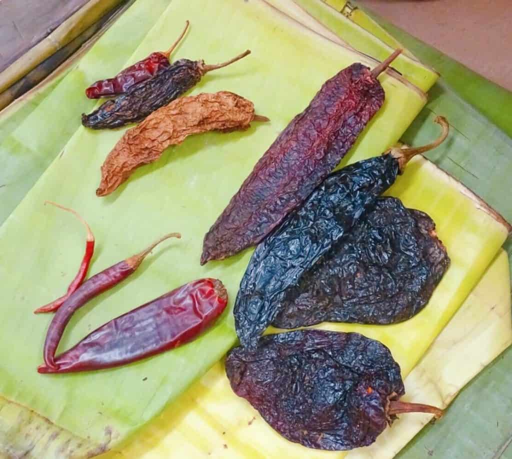
[[[512,340],[508,260],[500,251],[457,314],[405,379],[404,400],[445,407],[457,392]],[[429,415],[403,414],[368,448],[346,453],[306,449],[286,441],[229,386],[223,362],[168,406],[120,454],[138,457],[308,457],[390,459],[428,422]],[[441,424],[443,421],[439,421]]]

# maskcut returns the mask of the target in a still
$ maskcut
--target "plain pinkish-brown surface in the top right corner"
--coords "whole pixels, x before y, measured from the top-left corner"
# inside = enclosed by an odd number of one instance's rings
[[[512,91],[512,0],[359,0]]]

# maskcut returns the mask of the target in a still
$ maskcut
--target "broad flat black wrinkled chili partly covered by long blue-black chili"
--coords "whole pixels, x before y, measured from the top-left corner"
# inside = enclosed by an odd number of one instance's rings
[[[272,325],[392,324],[428,303],[450,265],[434,221],[379,198],[352,231],[287,290]]]

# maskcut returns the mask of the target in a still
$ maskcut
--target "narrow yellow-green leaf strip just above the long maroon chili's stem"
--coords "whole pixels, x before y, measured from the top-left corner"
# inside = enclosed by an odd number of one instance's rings
[[[375,35],[360,27],[348,17],[341,15],[323,0],[289,0],[299,8],[312,15],[321,22],[328,30],[358,51],[383,60],[389,56],[394,49]],[[300,19],[299,19],[300,20]],[[404,78],[411,81],[423,91],[428,91],[436,82],[438,73],[432,68],[421,64],[417,59],[406,53],[399,55],[392,64]]]

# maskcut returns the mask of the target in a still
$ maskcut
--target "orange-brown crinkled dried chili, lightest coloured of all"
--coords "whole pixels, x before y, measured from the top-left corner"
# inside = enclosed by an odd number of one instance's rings
[[[251,121],[268,121],[254,115],[250,100],[228,91],[182,97],[149,115],[125,132],[101,166],[97,196],[112,193],[144,164],[156,161],[170,145],[191,134],[244,130]]]

